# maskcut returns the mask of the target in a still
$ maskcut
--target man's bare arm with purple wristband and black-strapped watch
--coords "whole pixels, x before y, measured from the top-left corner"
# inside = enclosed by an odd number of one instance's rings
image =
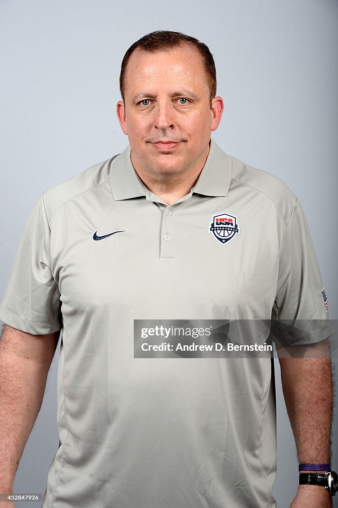
[[[327,341],[311,346],[316,358],[280,358],[283,393],[299,463],[329,464],[332,374]],[[301,485],[292,508],[329,508],[323,487]]]

